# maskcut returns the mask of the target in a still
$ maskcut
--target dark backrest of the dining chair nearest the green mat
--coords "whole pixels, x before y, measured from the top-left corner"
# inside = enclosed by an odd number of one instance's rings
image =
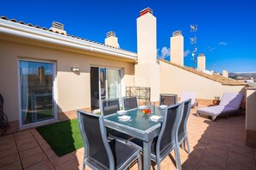
[[[78,124],[84,141],[84,160],[100,169],[114,169],[103,116],[78,110]]]

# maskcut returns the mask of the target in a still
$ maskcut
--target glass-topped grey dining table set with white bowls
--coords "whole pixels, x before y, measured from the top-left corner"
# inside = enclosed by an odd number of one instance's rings
[[[114,113],[104,117],[106,127],[136,137],[143,141],[143,169],[151,167],[151,145],[153,138],[159,136],[161,122],[165,109],[159,106],[149,106],[150,113],[134,108],[125,114],[129,119],[123,121],[121,115]],[[156,119],[155,119],[156,118]]]

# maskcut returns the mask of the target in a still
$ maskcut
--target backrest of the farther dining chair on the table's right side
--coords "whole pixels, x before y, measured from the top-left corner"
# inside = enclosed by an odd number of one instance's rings
[[[190,116],[191,99],[184,100],[183,102],[184,102],[183,115],[178,128],[178,137],[180,137],[184,132],[187,131],[187,122]]]

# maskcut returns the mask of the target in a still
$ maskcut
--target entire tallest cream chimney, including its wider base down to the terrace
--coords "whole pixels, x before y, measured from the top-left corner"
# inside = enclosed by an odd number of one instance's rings
[[[158,101],[160,93],[156,24],[157,19],[153,16],[152,9],[140,11],[140,16],[137,18],[138,62],[134,65],[134,86],[149,87],[151,102]]]

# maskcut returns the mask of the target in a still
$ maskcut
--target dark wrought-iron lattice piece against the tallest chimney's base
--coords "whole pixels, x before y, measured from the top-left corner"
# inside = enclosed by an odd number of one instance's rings
[[[150,88],[126,87],[126,96],[136,96],[139,105],[150,105]]]

